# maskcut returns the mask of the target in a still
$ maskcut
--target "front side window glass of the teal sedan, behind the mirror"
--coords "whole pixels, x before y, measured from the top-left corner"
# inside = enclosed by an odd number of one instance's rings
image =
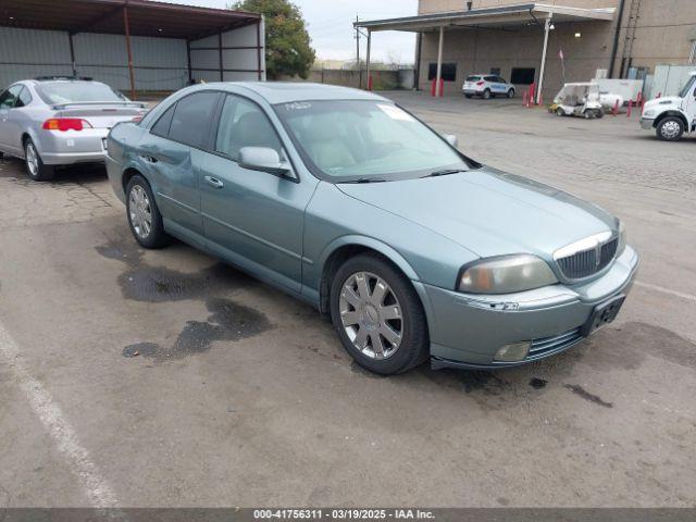
[[[236,161],[244,147],[268,147],[282,156],[281,140],[263,110],[252,101],[228,95],[220,115],[215,150]]]

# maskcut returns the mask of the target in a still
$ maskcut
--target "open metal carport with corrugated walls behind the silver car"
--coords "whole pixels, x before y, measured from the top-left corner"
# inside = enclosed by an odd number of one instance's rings
[[[2,0],[0,84],[70,74],[126,90],[127,79],[135,97],[194,79],[264,79],[264,39],[263,17],[240,11],[149,0]]]

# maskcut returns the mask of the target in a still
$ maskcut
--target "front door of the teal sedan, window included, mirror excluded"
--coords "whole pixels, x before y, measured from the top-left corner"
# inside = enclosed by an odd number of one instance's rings
[[[201,214],[209,248],[261,278],[299,293],[304,209],[319,183],[247,170],[244,147],[287,151],[269,114],[254,101],[227,95],[211,151],[201,169]]]

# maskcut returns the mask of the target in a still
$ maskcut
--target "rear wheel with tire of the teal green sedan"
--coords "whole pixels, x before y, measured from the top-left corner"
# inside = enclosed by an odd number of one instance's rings
[[[164,232],[162,214],[157,207],[150,184],[139,174],[126,186],[126,215],[130,233],[145,248],[162,248],[170,243]]]

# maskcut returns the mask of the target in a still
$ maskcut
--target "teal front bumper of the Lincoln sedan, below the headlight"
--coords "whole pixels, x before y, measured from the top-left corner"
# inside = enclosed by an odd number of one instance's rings
[[[584,338],[593,310],[631,289],[638,254],[631,247],[599,278],[506,296],[474,296],[424,285],[430,301],[431,363],[438,368],[497,369],[559,353]],[[532,341],[530,355],[498,362],[502,346]]]

